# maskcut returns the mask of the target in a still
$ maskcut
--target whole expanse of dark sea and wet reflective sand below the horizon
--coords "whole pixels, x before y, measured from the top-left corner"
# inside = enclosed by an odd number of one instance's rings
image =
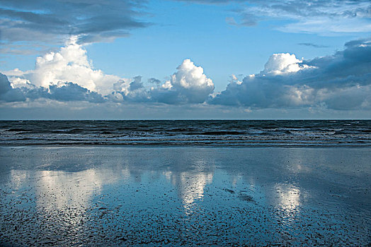
[[[0,121],[0,246],[371,246],[370,120]]]

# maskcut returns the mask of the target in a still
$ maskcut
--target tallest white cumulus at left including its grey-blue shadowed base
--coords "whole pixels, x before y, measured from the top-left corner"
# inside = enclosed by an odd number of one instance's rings
[[[1,77],[2,101],[45,98],[60,102],[105,102],[101,93],[113,91],[118,76],[105,75],[91,66],[86,50],[72,37],[59,52],[49,52],[36,59],[33,71],[18,68]],[[4,91],[4,92],[3,92]]]

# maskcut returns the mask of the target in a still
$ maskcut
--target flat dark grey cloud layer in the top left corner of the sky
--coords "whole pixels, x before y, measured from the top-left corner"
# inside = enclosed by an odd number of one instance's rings
[[[3,0],[0,1],[1,40],[55,42],[79,35],[80,42],[99,42],[144,28],[145,1],[129,0]],[[140,10],[140,11],[139,11]]]

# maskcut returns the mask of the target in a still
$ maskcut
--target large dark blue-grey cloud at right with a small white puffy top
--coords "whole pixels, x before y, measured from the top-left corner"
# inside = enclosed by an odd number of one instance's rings
[[[328,107],[370,109],[371,41],[348,42],[332,56],[302,61],[273,54],[261,73],[232,80],[210,104],[251,109]]]

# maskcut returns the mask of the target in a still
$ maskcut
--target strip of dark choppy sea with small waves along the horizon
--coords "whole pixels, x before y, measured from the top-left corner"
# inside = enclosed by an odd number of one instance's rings
[[[370,120],[0,121],[0,145],[370,146]]]

